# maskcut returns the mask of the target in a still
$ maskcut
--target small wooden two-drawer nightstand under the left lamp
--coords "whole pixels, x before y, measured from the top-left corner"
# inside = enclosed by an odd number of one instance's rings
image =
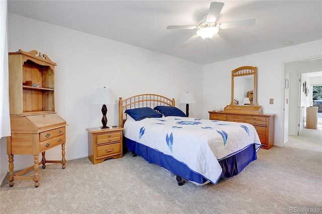
[[[88,132],[89,159],[93,164],[102,163],[109,158],[123,157],[123,128],[111,127],[100,130],[86,129]]]

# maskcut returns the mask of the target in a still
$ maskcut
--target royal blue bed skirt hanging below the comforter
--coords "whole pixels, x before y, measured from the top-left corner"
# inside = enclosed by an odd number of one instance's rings
[[[159,152],[155,149],[147,147],[143,144],[137,143],[130,139],[125,138],[125,144],[129,151],[135,152],[135,154],[143,157],[149,163],[154,163],[159,166],[162,166],[174,174],[185,178],[186,180],[194,181],[196,183],[204,183],[208,179],[203,177],[201,174],[191,170],[186,164],[176,160],[170,155],[165,155],[162,152]],[[249,163],[257,159],[257,152],[255,145],[251,144],[249,147],[240,151],[239,153],[230,156],[228,158],[222,159],[219,161],[219,164],[222,168],[222,178],[232,177],[239,172],[241,172]],[[218,179],[219,180],[219,179]],[[211,181],[213,184],[218,182]]]

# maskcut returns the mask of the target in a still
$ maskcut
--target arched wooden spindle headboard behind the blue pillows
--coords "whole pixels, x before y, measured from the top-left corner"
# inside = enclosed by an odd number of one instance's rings
[[[126,99],[119,99],[119,127],[123,127],[126,121],[126,115],[124,112],[127,109],[136,109],[142,107],[150,107],[153,109],[157,105],[169,105],[169,106],[176,106],[175,99],[168,98],[158,94],[139,94],[135,96],[131,96]]]

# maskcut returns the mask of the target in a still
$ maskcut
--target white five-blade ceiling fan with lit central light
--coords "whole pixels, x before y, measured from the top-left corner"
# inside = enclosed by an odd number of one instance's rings
[[[190,37],[186,42],[184,42],[180,47],[187,47],[191,42],[197,39],[199,36],[206,40],[207,42],[219,32],[219,30],[228,28],[238,28],[238,27],[248,27],[254,26],[256,19],[239,20],[233,22],[226,22],[217,24],[216,20],[219,16],[224,3],[222,2],[212,2],[209,7],[208,14],[204,15],[197,26],[174,26],[170,25],[167,27],[168,30],[172,29],[187,29],[187,30],[197,30],[196,34]]]

